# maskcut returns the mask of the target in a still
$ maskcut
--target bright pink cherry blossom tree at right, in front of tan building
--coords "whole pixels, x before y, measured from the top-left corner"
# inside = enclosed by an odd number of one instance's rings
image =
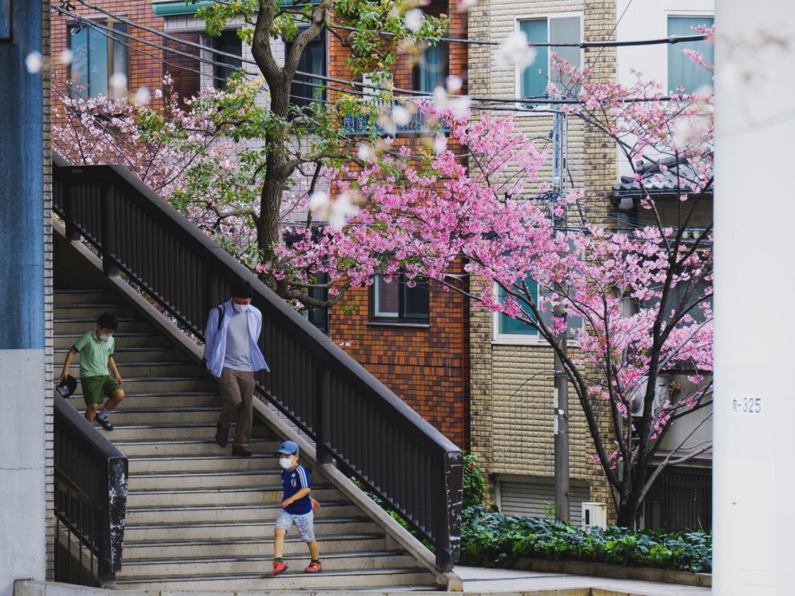
[[[409,284],[424,277],[458,292],[465,290],[447,272],[465,259],[474,304],[533,327],[560,357],[619,524],[631,525],[665,466],[711,447],[688,443],[706,416],[661,462],[654,460],[677,420],[712,403],[712,225],[690,229],[712,192],[712,97],[681,93],[668,100],[659,85],[640,78],[623,87],[592,82],[588,68],[560,68],[578,87],[579,103],[568,112],[626,155],[648,225],[622,229],[577,217],[572,226],[567,216],[589,204],[584,189],[544,193],[538,172],[545,153],[511,118],[471,119],[426,103],[420,109],[448,122],[468,164],[444,147],[443,137],[420,153],[403,147],[397,157],[384,141],[364,168],[327,170],[335,198],[313,198],[316,211],[343,203],[342,211],[355,212],[349,226],[327,228],[320,239],[293,230],[303,239],[282,247],[280,256],[339,284],[401,273]],[[669,170],[677,180],[673,224],[651,192]],[[350,209],[355,203],[360,211]],[[564,332],[574,349],[561,346]],[[669,370],[686,372],[693,389],[676,394],[672,387],[660,401],[657,378]],[[633,416],[638,400],[644,408]]]

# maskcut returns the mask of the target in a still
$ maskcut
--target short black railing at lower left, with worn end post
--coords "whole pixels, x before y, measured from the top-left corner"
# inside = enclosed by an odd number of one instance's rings
[[[122,569],[127,459],[55,395],[55,579],[86,586]]]

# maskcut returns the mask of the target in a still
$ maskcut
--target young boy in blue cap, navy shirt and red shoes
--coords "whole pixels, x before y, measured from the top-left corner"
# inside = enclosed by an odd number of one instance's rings
[[[312,484],[309,482],[309,472],[298,463],[298,443],[285,441],[277,451],[279,465],[281,466],[281,486],[284,497],[281,501],[281,511],[276,518],[276,528],[273,530],[273,576],[287,571],[287,563],[282,559],[285,548],[285,536],[289,529],[296,524],[301,540],[309,547],[312,561],[304,569],[305,573],[320,573],[320,547],[315,540],[313,527],[315,514],[312,509],[320,509],[320,504],[309,496]]]

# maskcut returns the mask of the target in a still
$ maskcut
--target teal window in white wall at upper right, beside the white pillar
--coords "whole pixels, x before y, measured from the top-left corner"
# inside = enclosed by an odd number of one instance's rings
[[[696,35],[693,27],[705,25],[712,27],[712,17],[668,17],[669,35]],[[707,41],[688,41],[687,43],[668,45],[668,88],[677,91],[684,87],[687,93],[693,93],[699,87],[712,87],[712,72],[701,64],[696,64],[684,55],[684,50],[695,50],[704,56],[707,64],[715,64],[715,48]]]

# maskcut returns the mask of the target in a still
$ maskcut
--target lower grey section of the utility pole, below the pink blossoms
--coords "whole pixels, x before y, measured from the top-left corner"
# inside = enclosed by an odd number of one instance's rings
[[[560,306],[555,307],[556,319],[566,320],[566,313]],[[566,352],[566,330],[556,338],[560,350]],[[555,353],[555,519],[568,521],[568,378],[563,370],[563,362]]]

